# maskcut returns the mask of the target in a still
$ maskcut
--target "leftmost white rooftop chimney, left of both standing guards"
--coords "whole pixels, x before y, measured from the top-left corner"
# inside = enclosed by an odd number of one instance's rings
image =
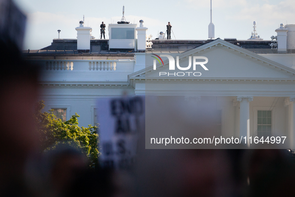
[[[80,26],[76,27],[77,30],[77,50],[78,52],[90,51],[90,30],[91,27],[84,27],[84,21],[80,21]]]

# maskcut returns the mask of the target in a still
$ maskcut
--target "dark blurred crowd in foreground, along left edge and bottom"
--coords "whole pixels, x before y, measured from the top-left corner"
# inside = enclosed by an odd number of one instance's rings
[[[132,169],[89,169],[71,146],[39,152],[38,68],[0,41],[0,196],[293,196],[295,160],[279,149],[145,149]]]

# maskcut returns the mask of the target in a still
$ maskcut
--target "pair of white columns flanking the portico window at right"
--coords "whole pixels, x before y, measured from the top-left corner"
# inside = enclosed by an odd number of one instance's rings
[[[250,102],[253,101],[252,96],[237,96],[237,101],[240,101],[240,137],[250,137]],[[289,110],[289,133],[290,146],[295,149],[295,97],[288,97],[285,100],[285,106]],[[248,146],[249,144],[249,140]]]

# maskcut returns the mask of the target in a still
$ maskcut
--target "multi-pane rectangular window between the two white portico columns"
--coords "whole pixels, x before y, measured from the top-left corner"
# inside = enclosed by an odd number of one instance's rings
[[[257,136],[258,137],[272,136],[272,111],[271,110],[257,111]]]

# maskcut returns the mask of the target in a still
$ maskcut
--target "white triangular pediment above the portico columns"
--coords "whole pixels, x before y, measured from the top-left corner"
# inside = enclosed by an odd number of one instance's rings
[[[148,54],[147,54],[148,55]],[[161,75],[159,72],[174,71],[181,72],[201,72],[198,79],[201,78],[224,78],[224,79],[287,79],[295,77],[295,70],[262,57],[259,54],[251,52],[240,46],[234,45],[222,39],[216,39],[212,42],[204,44],[200,47],[193,48],[178,54],[170,54],[179,56],[180,66],[186,67],[189,64],[189,56],[205,56],[208,58],[208,63],[205,66],[208,70],[197,65],[196,70],[193,70],[193,64],[189,70],[169,70],[169,60],[163,57],[164,65],[157,63],[157,69],[153,69],[152,63],[145,69],[139,70],[129,75],[130,78],[180,78],[181,76]],[[200,60],[204,61],[204,60]],[[176,63],[175,63],[176,66]],[[196,78],[196,76],[185,75],[184,78]]]

